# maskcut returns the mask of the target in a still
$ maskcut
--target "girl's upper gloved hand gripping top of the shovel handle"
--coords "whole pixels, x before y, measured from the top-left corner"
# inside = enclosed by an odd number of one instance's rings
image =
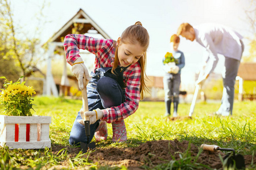
[[[81,57],[77,58],[71,68],[72,73],[76,76],[76,78],[79,82],[80,90],[83,90],[84,87],[87,85],[86,82],[88,82],[90,80],[90,75],[88,73],[88,70],[87,70],[86,66],[84,65],[84,63],[82,63],[82,62],[83,61],[82,61]],[[85,75],[86,79],[82,78],[84,75]]]

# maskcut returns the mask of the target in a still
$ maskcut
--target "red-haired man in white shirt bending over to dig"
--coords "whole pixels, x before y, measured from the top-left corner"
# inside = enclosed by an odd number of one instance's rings
[[[187,40],[196,40],[209,52],[209,56],[205,59],[207,67],[204,70],[204,74],[197,80],[197,84],[202,83],[215,69],[218,62],[217,54],[222,54],[225,57],[225,67],[222,71],[224,89],[221,107],[216,114],[222,116],[231,115],[234,103],[234,84],[244,49],[241,40],[242,36],[231,28],[211,23],[195,27],[188,23],[182,23],[177,35],[181,35]]]

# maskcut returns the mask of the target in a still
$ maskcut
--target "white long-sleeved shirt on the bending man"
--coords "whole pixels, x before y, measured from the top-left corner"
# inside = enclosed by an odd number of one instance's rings
[[[196,25],[193,28],[196,41],[209,52],[207,62],[212,67],[207,72],[211,73],[215,69],[218,62],[217,54],[240,61],[242,57],[240,40],[243,37],[232,28],[212,23]]]

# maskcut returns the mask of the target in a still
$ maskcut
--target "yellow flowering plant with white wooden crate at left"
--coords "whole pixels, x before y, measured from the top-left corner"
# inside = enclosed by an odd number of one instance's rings
[[[0,115],[0,145],[7,145],[10,149],[51,147],[51,117],[31,114],[35,90],[25,82],[20,83],[22,77],[17,82],[9,82],[4,76],[0,78],[5,79],[0,94],[4,110],[4,115]]]

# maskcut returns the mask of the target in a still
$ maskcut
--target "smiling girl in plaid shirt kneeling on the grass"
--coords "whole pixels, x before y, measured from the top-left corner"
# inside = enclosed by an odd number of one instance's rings
[[[117,41],[94,39],[85,35],[67,35],[64,49],[72,73],[79,80],[79,88],[87,85],[89,112],[80,111],[72,126],[69,143],[106,140],[107,123],[112,123],[113,142],[127,140],[123,119],[138,109],[139,100],[147,90],[144,82],[146,50],[149,44],[147,30],[141,22],[126,28]],[[88,70],[79,56],[79,49],[95,54],[93,71]],[[81,114],[81,115],[80,115]],[[82,117],[90,116],[90,137],[86,137]]]

